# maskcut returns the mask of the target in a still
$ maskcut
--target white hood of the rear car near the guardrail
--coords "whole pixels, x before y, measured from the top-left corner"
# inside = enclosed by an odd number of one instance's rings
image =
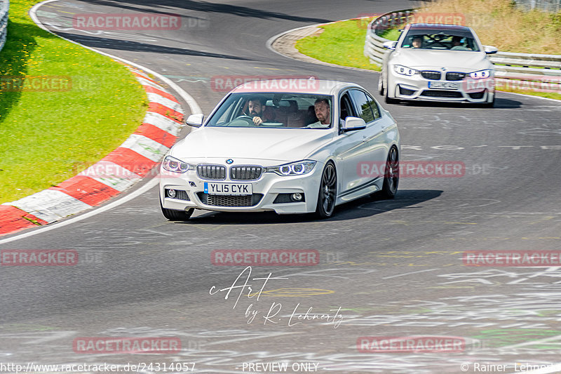
[[[485,52],[435,51],[430,49],[400,49],[393,53],[391,62],[415,69],[445,67],[448,70],[454,69],[460,72],[488,69],[491,65]]]

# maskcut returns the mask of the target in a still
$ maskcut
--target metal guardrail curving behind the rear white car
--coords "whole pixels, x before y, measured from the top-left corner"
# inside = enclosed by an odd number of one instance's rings
[[[368,24],[364,54],[373,64],[381,65],[384,54],[384,39],[380,36],[387,29],[405,26],[416,11],[398,11],[380,15]],[[529,53],[498,52],[489,55],[495,65],[495,77],[499,84],[521,88],[532,86],[537,91],[561,93],[561,55],[538,55]],[[529,84],[528,82],[532,82]]]

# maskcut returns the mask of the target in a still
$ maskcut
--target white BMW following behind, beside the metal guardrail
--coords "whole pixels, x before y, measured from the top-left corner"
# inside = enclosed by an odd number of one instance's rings
[[[473,102],[492,107],[494,69],[473,29],[456,25],[407,25],[398,41],[387,41],[379,92],[397,100]]]

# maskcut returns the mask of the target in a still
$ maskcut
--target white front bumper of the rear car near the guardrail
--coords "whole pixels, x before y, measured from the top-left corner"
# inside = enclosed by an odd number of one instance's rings
[[[433,84],[449,86],[449,88],[429,87]],[[457,86],[457,88],[450,88],[450,86]],[[399,100],[492,102],[494,98],[494,77],[491,76],[478,81],[471,79],[447,81],[444,79],[425,79],[420,74],[405,76],[390,72],[388,73],[388,97]]]

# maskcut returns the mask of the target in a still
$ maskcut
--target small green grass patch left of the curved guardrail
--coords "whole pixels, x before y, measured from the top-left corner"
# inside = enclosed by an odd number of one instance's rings
[[[332,64],[379,71],[364,55],[367,22],[348,20],[321,26],[323,33],[296,42],[300,53]]]

